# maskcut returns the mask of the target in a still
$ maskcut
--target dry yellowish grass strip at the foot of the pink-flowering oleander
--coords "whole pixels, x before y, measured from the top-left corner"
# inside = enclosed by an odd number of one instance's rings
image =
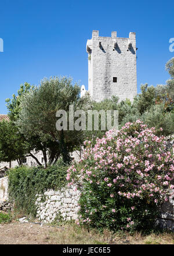
[[[74,224],[67,224],[61,229],[50,230],[48,235],[50,244],[174,244],[174,234],[161,233],[142,236],[135,233],[111,233],[104,230],[103,234],[96,230],[88,230]]]

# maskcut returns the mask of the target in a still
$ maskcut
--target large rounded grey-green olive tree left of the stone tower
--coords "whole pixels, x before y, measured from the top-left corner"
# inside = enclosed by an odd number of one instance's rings
[[[84,108],[85,97],[79,98],[79,92],[79,86],[73,85],[71,78],[51,77],[42,80],[39,87],[25,94],[20,101],[17,126],[26,138],[35,136],[45,143],[50,163],[60,154],[64,162],[70,162],[69,152],[83,142],[82,131],[56,129],[57,111],[69,113],[70,105],[74,105],[74,111]]]

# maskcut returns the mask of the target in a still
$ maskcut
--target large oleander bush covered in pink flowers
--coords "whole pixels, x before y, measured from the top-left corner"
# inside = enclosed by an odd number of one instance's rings
[[[137,120],[107,131],[94,147],[85,142],[81,161],[66,177],[68,185],[78,183],[81,190],[78,225],[130,232],[155,228],[160,206],[174,187],[172,149],[157,133]]]

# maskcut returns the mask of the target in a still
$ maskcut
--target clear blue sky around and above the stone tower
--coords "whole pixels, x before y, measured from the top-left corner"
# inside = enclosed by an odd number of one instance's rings
[[[136,32],[137,89],[140,84],[165,84],[165,63],[174,56],[172,1],[3,0],[0,5],[0,113],[5,98],[21,83],[38,84],[44,77],[66,75],[88,88],[86,41],[92,30],[101,36],[129,37]]]

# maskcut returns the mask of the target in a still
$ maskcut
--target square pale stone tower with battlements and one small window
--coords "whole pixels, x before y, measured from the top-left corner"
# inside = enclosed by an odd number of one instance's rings
[[[135,33],[121,38],[113,31],[111,37],[99,37],[99,31],[93,30],[86,51],[88,90],[92,98],[101,101],[115,95],[120,100],[132,101],[137,94]]]

